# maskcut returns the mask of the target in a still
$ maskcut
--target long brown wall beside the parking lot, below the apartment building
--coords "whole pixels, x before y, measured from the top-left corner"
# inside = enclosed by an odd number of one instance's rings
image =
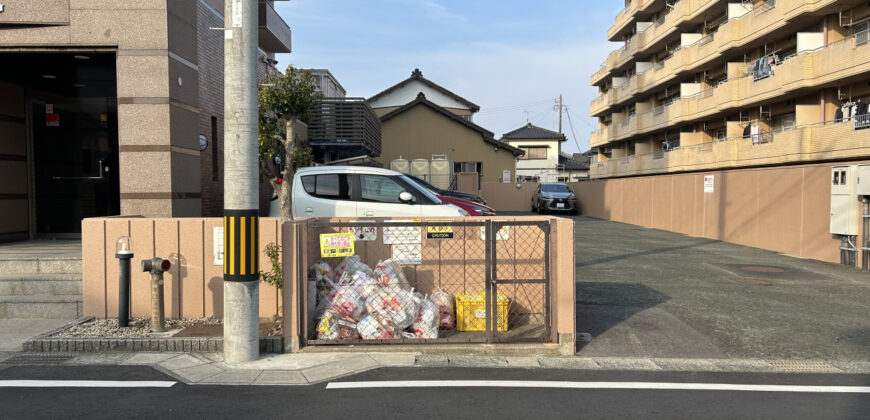
[[[863,162],[847,164],[854,163]],[[839,262],[840,240],[829,233],[831,165],[617,178],[570,186],[586,216]],[[715,177],[713,193],[703,191],[705,175]]]

